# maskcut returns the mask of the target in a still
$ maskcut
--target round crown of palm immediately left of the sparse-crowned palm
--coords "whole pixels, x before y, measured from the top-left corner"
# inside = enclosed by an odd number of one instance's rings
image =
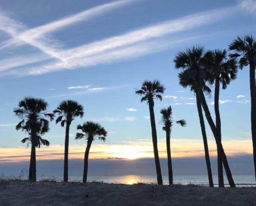
[[[162,100],[162,95],[164,93],[165,87],[159,80],[145,80],[142,82],[142,87],[140,90],[136,90],[135,94],[138,94],[140,96],[143,95],[141,98],[141,102],[146,101],[147,104],[149,101],[153,102],[154,106],[154,99],[160,99]]]

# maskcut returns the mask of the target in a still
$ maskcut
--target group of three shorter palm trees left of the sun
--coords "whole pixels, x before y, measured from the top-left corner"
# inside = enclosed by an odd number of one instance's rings
[[[71,122],[76,117],[83,117],[84,108],[77,101],[65,100],[62,101],[56,110],[52,113],[47,112],[48,103],[42,98],[25,97],[19,102],[18,108],[13,110],[14,114],[21,119],[21,122],[16,126],[17,130],[25,131],[28,138],[24,138],[21,142],[31,144],[31,160],[29,164],[29,181],[36,181],[36,147],[41,145],[49,146],[48,140],[42,139],[42,135],[49,132],[50,122],[54,120],[55,114],[58,115],[56,124],[61,122],[61,126],[66,125],[65,135],[65,151],[64,151],[64,182],[68,182],[68,146],[69,146],[69,128]],[[78,125],[77,130],[82,133],[76,134],[76,140],[84,138],[87,140],[87,147],[84,155],[84,172],[83,182],[87,181],[89,149],[92,142],[98,138],[105,141],[107,131],[98,123],[85,122],[83,125]]]

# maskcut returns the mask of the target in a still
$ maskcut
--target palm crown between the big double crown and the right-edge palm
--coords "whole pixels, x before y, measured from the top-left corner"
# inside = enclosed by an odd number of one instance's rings
[[[213,74],[215,78],[219,78],[222,83],[222,89],[227,89],[230,81],[237,77],[237,62],[234,58],[228,58],[228,51],[226,49],[216,49],[213,55]]]

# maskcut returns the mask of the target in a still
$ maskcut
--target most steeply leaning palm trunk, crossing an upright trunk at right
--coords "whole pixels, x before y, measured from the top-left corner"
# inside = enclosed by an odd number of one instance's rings
[[[219,134],[218,134],[218,131],[217,131],[216,126],[214,124],[213,118],[210,115],[210,111],[209,111],[209,108],[207,106],[207,102],[205,100],[204,93],[203,93],[201,88],[199,89],[198,86],[197,86],[197,91],[199,93],[199,98],[200,98],[201,104],[203,106],[206,119],[207,119],[207,121],[209,123],[210,129],[213,132],[213,135],[214,135],[214,138],[215,138],[215,141],[216,141],[216,144],[217,144],[217,149],[220,151],[220,156],[221,156],[222,163],[224,165],[224,168],[225,168],[225,171],[226,171],[226,174],[227,174],[227,178],[228,178],[230,187],[235,187],[235,183],[234,183],[234,180],[233,180],[233,177],[232,177],[232,174],[231,174],[231,170],[229,168],[228,159],[227,159],[227,157],[225,155],[225,152],[224,152],[223,146],[221,144],[221,141],[220,141],[220,138],[219,138]]]

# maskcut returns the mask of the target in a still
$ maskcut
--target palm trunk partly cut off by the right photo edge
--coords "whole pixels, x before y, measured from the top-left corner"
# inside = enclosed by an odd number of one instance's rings
[[[250,62],[250,91],[251,91],[251,135],[253,146],[253,161],[256,180],[256,87],[255,87],[255,66]]]

